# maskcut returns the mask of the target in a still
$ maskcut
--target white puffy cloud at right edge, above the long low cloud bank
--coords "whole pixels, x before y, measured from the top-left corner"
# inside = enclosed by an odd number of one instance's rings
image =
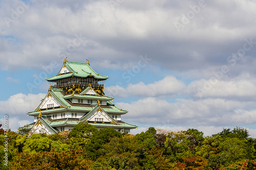
[[[256,78],[248,73],[228,80],[216,77],[191,82],[187,87],[187,93],[197,98],[225,98],[225,99],[252,99],[256,96]]]

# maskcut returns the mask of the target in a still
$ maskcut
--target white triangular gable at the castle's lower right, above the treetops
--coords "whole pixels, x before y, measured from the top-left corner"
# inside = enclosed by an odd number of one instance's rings
[[[96,106],[91,112],[82,117],[81,122],[104,122],[111,124],[118,124],[108,113],[106,113],[100,106]]]

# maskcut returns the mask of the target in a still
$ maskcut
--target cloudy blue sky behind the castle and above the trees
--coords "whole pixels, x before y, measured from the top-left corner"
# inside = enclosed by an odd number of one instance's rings
[[[256,137],[256,2],[0,1],[0,124],[33,122],[47,77],[68,61],[109,76],[124,122]]]

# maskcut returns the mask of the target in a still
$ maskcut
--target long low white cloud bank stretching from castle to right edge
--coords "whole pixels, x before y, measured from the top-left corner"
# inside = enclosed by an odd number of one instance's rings
[[[255,102],[238,102],[224,99],[185,100],[176,103],[156,98],[136,102],[116,103],[128,109],[125,119],[152,125],[186,126],[239,126],[255,124]],[[251,110],[247,110],[251,108]],[[242,110],[241,110],[242,109]]]

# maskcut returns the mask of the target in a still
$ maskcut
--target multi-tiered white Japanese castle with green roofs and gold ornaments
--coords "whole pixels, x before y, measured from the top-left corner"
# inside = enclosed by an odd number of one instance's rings
[[[122,110],[111,101],[113,97],[104,95],[105,80],[108,76],[97,74],[89,64],[67,61],[56,76],[47,78],[50,87],[45,99],[28,116],[34,116],[34,123],[19,129],[29,129],[33,133],[56,134],[72,130],[78,123],[88,123],[97,129],[114,128],[130,133],[137,128],[121,120]]]

